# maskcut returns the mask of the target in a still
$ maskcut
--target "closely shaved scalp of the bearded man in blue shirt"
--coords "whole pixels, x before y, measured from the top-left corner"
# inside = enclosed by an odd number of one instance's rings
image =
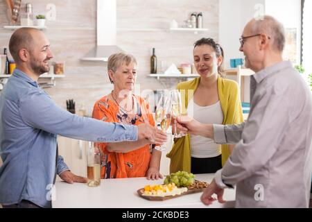
[[[41,33],[37,28],[19,28],[15,31],[9,43],[10,53],[15,60],[15,62],[20,62],[19,50],[26,49],[27,51],[33,51],[35,44],[34,35],[36,33]]]

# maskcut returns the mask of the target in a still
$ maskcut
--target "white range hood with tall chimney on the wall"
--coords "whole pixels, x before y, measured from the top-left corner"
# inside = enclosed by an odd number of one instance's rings
[[[116,46],[116,0],[97,0],[96,47],[81,60],[103,61],[113,53],[123,52]]]

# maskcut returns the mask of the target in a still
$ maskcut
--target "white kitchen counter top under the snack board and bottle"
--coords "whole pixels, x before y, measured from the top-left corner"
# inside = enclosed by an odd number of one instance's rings
[[[214,173],[198,174],[197,180],[211,182]],[[66,182],[55,183],[55,200],[53,208],[63,207],[101,207],[101,208],[157,208],[157,207],[234,207],[235,189],[225,189],[223,198],[227,203],[220,204],[215,200],[206,206],[200,201],[200,195],[187,194],[164,201],[150,201],[139,197],[137,190],[145,185],[162,184],[161,180],[146,180],[146,178],[122,178],[101,180],[101,186],[88,187],[86,184]]]

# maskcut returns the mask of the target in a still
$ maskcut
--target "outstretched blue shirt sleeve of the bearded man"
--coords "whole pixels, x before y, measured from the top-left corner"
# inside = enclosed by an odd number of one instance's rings
[[[79,117],[60,108],[43,92],[25,96],[19,102],[19,109],[26,124],[56,135],[92,142],[137,140],[137,126]]]

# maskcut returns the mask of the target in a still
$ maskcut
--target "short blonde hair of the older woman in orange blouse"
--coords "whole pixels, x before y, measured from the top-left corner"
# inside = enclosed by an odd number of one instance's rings
[[[107,62],[107,71],[116,71],[118,67],[121,65],[129,65],[130,63],[135,63],[137,65],[137,60],[135,59],[135,56],[132,56],[131,54],[128,53],[115,53],[112,54],[108,58]],[[108,76],[110,78],[110,75]],[[113,81],[110,79],[110,83],[113,83]]]

